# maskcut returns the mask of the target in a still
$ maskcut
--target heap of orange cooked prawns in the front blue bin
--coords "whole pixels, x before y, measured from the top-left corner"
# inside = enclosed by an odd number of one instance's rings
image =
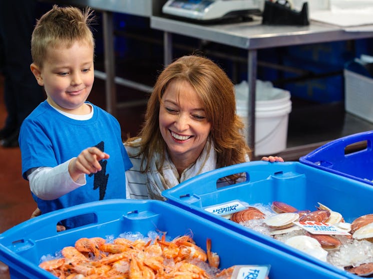
[[[236,266],[219,270],[220,257],[211,248],[210,239],[204,251],[188,235],[171,241],[166,234],[150,240],[81,238],[39,267],[60,279],[231,278]]]

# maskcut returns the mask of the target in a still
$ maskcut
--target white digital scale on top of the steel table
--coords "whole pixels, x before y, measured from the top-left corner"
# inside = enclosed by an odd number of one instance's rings
[[[216,21],[261,13],[264,0],[168,0],[166,14],[197,21]]]

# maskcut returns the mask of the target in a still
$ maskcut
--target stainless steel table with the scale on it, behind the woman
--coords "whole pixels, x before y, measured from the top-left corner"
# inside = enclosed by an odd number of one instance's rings
[[[310,44],[318,42],[353,40],[373,37],[373,32],[347,32],[338,26],[311,21],[308,26],[262,25],[261,18],[233,24],[206,25],[182,20],[151,16],[150,26],[164,32],[164,63],[172,56],[172,34],[180,34],[201,40],[247,49],[248,144],[255,148],[255,81],[257,50],[278,46]]]

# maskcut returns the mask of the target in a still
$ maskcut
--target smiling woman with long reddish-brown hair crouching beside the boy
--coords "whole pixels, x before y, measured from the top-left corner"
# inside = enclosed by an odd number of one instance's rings
[[[126,172],[127,198],[164,200],[162,191],[180,182],[249,161],[235,108],[233,83],[210,59],[189,55],[167,66],[149,98],[142,130],[125,142],[133,164]]]

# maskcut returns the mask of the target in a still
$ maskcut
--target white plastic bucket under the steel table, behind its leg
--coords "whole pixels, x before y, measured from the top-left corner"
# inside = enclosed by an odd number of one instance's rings
[[[260,93],[257,96],[260,96]],[[265,98],[268,99],[265,100]],[[247,103],[237,100],[236,112],[245,124],[244,133],[247,140]],[[255,101],[255,156],[275,155],[286,149],[287,125],[290,112],[289,91],[273,88],[271,94],[262,96]]]

